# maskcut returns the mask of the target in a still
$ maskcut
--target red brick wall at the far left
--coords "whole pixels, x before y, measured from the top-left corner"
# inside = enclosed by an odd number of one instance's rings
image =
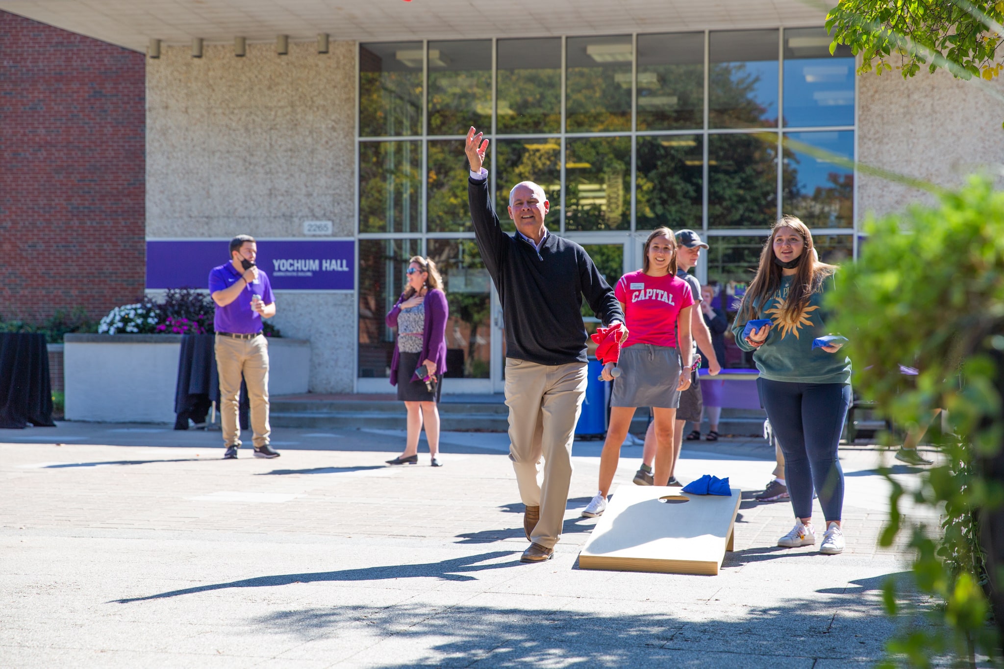
[[[145,60],[0,11],[0,318],[143,294]]]

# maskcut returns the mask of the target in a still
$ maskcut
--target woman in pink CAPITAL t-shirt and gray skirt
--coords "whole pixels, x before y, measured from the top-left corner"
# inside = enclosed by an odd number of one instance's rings
[[[694,295],[687,282],[677,277],[677,240],[673,231],[653,231],[643,256],[643,268],[620,277],[613,289],[631,334],[620,351],[620,376],[613,382],[610,397],[610,424],[599,458],[599,491],[582,512],[586,518],[600,516],[606,510],[606,493],[613,482],[620,444],[639,406],[651,406],[655,415],[656,485],[669,482],[680,392],[691,383]],[[603,380],[613,380],[612,368],[612,362],[603,366]]]

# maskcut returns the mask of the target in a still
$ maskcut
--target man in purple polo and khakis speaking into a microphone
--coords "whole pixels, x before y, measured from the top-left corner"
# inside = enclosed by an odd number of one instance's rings
[[[278,457],[268,445],[268,341],[262,319],[275,316],[275,300],[268,276],[255,264],[258,245],[248,235],[230,240],[230,262],[209,273],[209,292],[216,302],[216,368],[220,374],[220,418],[223,421],[224,459],[237,457],[241,446],[238,403],[241,376],[251,400],[254,456]]]

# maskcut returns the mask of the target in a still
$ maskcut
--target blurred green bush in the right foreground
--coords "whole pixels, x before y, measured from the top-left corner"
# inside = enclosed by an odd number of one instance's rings
[[[908,533],[917,588],[940,603],[936,625],[894,639],[890,650],[921,667],[933,655],[994,656],[988,594],[1000,592],[1004,570],[985,561],[980,524],[999,527],[1004,506],[993,468],[1004,440],[1004,193],[973,178],[943,194],[939,207],[871,220],[865,231],[858,262],[841,270],[830,302],[835,327],[850,338],[855,389],[898,425],[926,424],[944,408],[950,428],[935,426],[944,463],[924,471],[917,490],[887,473],[893,491],[881,542]],[[920,369],[913,387],[901,364]],[[911,522],[901,506],[907,498],[941,514],[940,531]],[[896,613],[892,585],[886,602]]]

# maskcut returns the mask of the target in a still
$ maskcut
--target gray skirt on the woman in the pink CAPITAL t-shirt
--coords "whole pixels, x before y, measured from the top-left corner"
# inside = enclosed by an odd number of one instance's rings
[[[680,406],[680,352],[672,346],[635,344],[620,351],[620,376],[613,381],[610,406]]]

